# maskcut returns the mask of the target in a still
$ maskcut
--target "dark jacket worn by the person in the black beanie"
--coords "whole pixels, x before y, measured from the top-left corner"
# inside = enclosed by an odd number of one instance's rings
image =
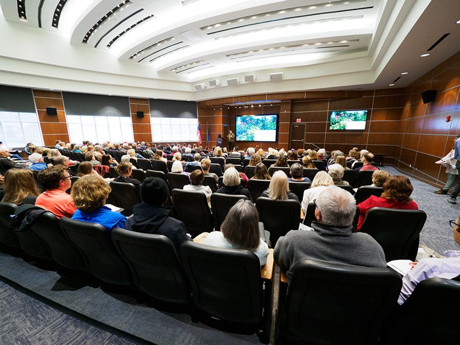
[[[170,212],[171,210],[167,208],[156,207],[144,202],[134,205],[133,216],[127,220],[125,229],[166,236],[173,242],[179,255],[181,244],[189,239],[185,234],[184,223],[169,217]]]

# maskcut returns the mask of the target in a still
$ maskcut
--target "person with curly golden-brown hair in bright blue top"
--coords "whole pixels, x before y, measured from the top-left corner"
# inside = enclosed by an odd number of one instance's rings
[[[124,228],[126,217],[104,206],[110,191],[110,186],[99,175],[85,175],[79,178],[70,192],[77,207],[72,219],[100,224],[108,231],[113,228]]]

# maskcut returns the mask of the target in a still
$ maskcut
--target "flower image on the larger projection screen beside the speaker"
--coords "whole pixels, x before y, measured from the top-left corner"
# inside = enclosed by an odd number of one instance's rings
[[[237,141],[276,141],[277,115],[250,115],[236,118]]]

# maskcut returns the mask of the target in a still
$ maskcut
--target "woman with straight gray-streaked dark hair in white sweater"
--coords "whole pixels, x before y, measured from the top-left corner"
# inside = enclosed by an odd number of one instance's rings
[[[228,212],[220,230],[209,233],[204,244],[230,249],[246,249],[257,255],[261,266],[265,265],[269,255],[269,246],[260,239],[259,214],[251,201],[238,200]]]

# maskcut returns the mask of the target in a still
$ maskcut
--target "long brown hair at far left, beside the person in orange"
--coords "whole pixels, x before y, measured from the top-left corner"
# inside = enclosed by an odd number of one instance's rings
[[[4,176],[4,196],[2,202],[16,205],[35,204],[38,192],[33,173],[28,169],[9,169]]]

